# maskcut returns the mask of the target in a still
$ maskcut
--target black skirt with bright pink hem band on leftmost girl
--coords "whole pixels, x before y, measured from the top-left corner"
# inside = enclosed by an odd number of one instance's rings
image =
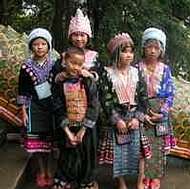
[[[53,114],[50,99],[32,101],[27,109],[28,124],[22,132],[24,148],[27,152],[51,152],[53,147]]]

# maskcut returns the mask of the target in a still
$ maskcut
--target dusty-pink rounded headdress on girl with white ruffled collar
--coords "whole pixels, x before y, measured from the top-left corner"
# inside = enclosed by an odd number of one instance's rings
[[[112,54],[116,50],[116,48],[122,44],[133,45],[133,40],[128,33],[117,34],[115,37],[113,37],[109,41],[107,47],[108,47],[109,52]]]

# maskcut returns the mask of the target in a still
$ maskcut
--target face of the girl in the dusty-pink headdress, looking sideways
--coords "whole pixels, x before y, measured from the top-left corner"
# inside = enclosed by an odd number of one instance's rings
[[[134,59],[134,51],[132,47],[124,47],[120,53],[120,65],[130,65]]]

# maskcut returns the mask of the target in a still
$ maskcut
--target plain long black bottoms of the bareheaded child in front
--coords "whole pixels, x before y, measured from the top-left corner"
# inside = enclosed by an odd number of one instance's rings
[[[70,129],[76,133],[80,127]],[[68,147],[65,134],[62,139],[56,177],[77,185],[94,181],[97,165],[95,128],[87,128],[82,143],[76,147]]]

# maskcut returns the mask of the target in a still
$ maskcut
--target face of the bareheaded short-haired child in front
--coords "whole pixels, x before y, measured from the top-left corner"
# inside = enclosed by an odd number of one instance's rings
[[[83,55],[74,54],[65,59],[67,73],[72,76],[78,76],[83,68],[85,58]]]

